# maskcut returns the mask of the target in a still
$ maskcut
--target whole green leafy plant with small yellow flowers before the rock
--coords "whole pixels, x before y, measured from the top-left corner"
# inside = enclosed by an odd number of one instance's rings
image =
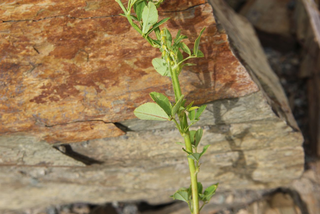
[[[203,130],[190,130],[189,127],[199,121],[199,117],[203,113],[206,105],[201,107],[192,106],[193,102],[186,105],[186,99],[181,92],[179,74],[184,66],[192,66],[196,64],[185,63],[190,58],[204,57],[204,54],[199,50],[199,42],[201,34],[205,28],[200,31],[200,35],[195,41],[193,51],[182,42],[187,39],[187,36],[181,35],[180,30],[176,37],[172,40],[172,35],[167,28],[159,29],[159,26],[170,18],[165,18],[158,22],[157,8],[163,0],[129,0],[125,7],[121,0],[115,0],[123,12],[122,16],[126,17],[131,26],[140,33],[140,35],[150,43],[152,47],[156,47],[161,52],[161,58],[152,60],[152,64],[156,71],[162,76],[171,77],[172,86],[174,90],[174,102],[170,102],[169,98],[158,92],[151,92],[150,97],[155,101],[140,105],[134,110],[134,115],[142,120],[159,120],[159,121],[173,121],[184,138],[184,145],[182,148],[187,154],[191,185],[189,188],[180,188],[171,197],[173,199],[186,201],[189,205],[192,214],[199,214],[204,204],[208,203],[215,193],[218,184],[213,184],[203,191],[203,186],[197,181],[197,174],[199,172],[199,159],[206,152],[210,145],[206,145],[202,152],[197,152],[197,147],[202,137]],[[133,11],[135,14],[131,14]],[[152,39],[149,34],[155,32],[156,38]],[[186,58],[180,49],[188,54]],[[178,121],[177,121],[178,119]],[[202,206],[199,208],[199,201]]]

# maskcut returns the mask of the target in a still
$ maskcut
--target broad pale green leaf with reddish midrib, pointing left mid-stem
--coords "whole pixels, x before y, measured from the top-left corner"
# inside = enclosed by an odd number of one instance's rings
[[[170,117],[156,103],[144,103],[133,111],[134,115],[141,120],[169,120]]]

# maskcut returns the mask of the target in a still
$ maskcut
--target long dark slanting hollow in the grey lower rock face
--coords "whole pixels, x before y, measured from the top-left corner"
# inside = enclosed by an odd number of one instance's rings
[[[69,156],[70,158],[73,158],[77,161],[80,161],[84,163],[87,166],[90,166],[92,164],[103,164],[103,161],[95,160],[93,158],[89,158],[85,155],[82,155],[80,153],[75,152],[72,147],[69,144],[60,144],[57,146],[53,146],[54,149],[60,151],[61,153]]]

